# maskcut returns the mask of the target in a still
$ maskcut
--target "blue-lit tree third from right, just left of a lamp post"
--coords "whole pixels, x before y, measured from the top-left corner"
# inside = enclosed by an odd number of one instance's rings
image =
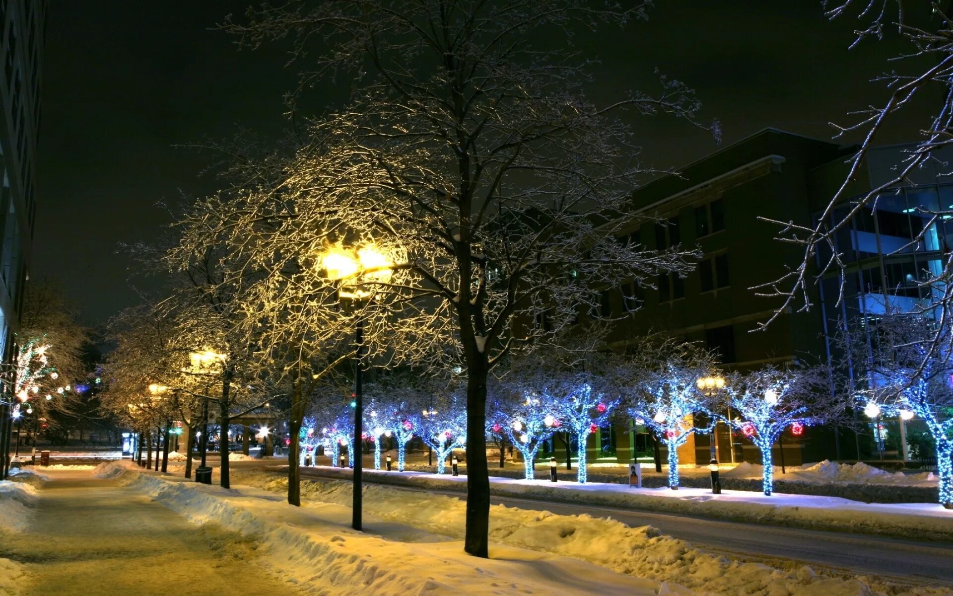
[[[711,416],[712,399],[696,384],[708,370],[697,363],[669,360],[646,373],[628,396],[629,415],[651,429],[668,449],[668,485],[673,490],[679,488],[679,447],[693,434],[710,431],[697,427],[694,416]]]

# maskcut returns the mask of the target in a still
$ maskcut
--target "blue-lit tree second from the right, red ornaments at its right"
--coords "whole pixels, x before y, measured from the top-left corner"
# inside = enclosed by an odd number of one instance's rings
[[[771,449],[781,434],[790,428],[792,434],[800,435],[805,426],[833,421],[841,415],[843,403],[832,399],[826,383],[820,371],[776,366],[734,375],[725,383],[726,403],[737,416],[720,418],[760,450],[765,495],[770,496],[774,487]]]

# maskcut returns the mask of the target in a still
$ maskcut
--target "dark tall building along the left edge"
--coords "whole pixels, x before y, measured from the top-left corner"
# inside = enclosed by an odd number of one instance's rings
[[[46,14],[45,0],[0,0],[0,353],[8,358],[11,334],[18,328],[36,216],[35,160]]]

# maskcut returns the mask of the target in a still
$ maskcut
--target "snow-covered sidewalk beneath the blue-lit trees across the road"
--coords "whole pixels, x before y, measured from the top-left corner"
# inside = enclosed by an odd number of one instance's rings
[[[350,470],[315,466],[302,468],[336,478]],[[364,470],[367,482],[391,483],[440,490],[465,491],[465,476],[419,472]],[[491,477],[493,494],[554,501],[598,504],[642,511],[677,513],[753,524],[790,525],[809,529],[917,536],[920,540],[953,540],[953,510],[940,504],[867,504],[839,497],[785,495],[710,488],[635,488],[628,484],[527,481]]]

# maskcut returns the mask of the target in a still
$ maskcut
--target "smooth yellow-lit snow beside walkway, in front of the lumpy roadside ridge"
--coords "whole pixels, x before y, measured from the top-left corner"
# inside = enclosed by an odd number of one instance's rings
[[[261,560],[289,583],[312,594],[366,596],[440,594],[588,594],[593,585],[612,595],[684,594],[680,586],[663,586],[606,569],[529,551],[499,546],[502,556],[475,560],[458,542],[440,541],[399,524],[385,532],[412,531],[406,538],[384,540],[350,529],[345,507],[291,507],[265,491],[240,487],[225,490],[152,475],[113,464],[98,471],[136,488],[198,524],[214,523],[253,536]],[[367,516],[366,524],[372,524]],[[406,534],[403,534],[406,536]],[[505,548],[505,549],[504,549]],[[478,564],[478,565],[477,565]]]

